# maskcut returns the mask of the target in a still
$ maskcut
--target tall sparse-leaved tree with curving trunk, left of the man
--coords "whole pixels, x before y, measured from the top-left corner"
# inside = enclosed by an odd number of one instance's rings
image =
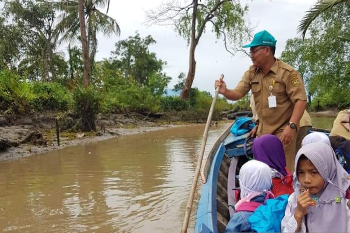
[[[148,24],[173,25],[190,45],[187,78],[181,92],[186,99],[196,72],[195,50],[209,24],[217,39],[223,38],[226,51],[234,55],[243,41],[250,38],[245,22],[248,7],[239,0],[191,0],[181,4],[177,0],[163,3],[158,9],[147,12]]]

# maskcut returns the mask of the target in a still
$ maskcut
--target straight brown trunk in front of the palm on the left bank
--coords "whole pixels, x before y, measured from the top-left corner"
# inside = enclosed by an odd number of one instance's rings
[[[89,59],[89,48],[87,47],[86,41],[86,26],[85,26],[85,15],[84,15],[84,2],[85,0],[78,0],[78,10],[79,10],[79,26],[80,26],[80,37],[82,40],[83,48],[83,60],[84,60],[84,78],[83,86],[87,87],[90,83],[90,59]]]

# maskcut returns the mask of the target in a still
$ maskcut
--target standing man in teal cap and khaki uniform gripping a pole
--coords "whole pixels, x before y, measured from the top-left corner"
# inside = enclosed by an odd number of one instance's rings
[[[307,105],[305,87],[300,75],[274,57],[276,39],[266,30],[254,35],[250,44],[253,65],[235,89],[216,80],[215,88],[229,100],[239,100],[252,90],[259,121],[257,136],[274,134],[280,138],[286,153],[287,168],[294,170],[295,145],[299,121]]]

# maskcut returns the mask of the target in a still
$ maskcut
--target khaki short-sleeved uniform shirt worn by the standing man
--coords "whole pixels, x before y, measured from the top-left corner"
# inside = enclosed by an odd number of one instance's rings
[[[272,85],[272,95],[276,96],[277,103],[275,108],[269,108],[267,100],[271,93],[269,86]],[[279,59],[276,59],[266,75],[255,66],[251,66],[244,73],[235,90],[246,95],[250,89],[259,116],[258,136],[275,134],[283,130],[292,116],[294,103],[298,100],[307,100],[300,75]]]

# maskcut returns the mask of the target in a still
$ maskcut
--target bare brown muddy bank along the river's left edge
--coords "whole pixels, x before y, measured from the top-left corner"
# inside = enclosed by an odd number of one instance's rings
[[[61,121],[62,122],[62,121]],[[0,161],[15,160],[30,155],[82,145],[155,130],[183,125],[135,115],[111,114],[98,116],[96,132],[79,132],[62,129],[59,132],[60,146],[57,145],[56,119],[49,114],[38,118],[0,116]],[[7,147],[7,148],[6,148]]]

